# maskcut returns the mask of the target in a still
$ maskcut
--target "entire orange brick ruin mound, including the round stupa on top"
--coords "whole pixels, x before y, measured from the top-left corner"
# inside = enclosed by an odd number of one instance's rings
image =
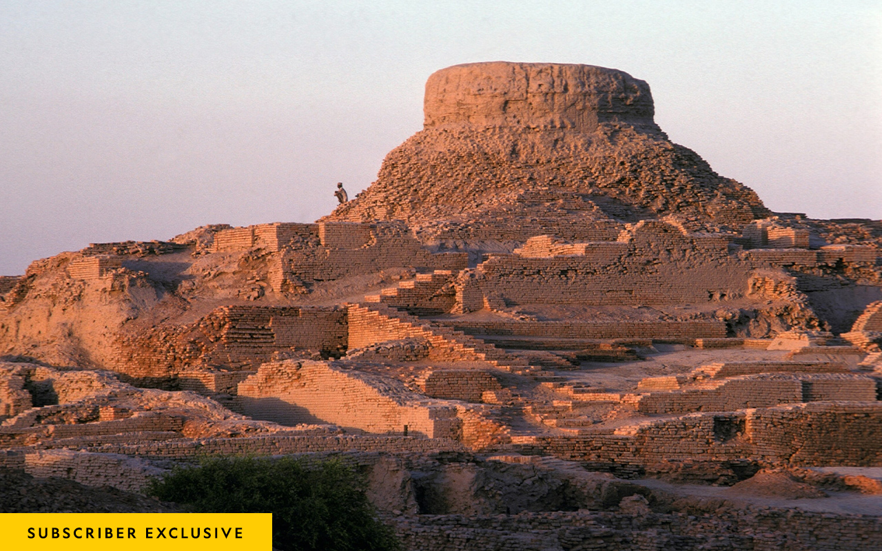
[[[131,510],[201,454],[333,456],[412,549],[882,549],[882,222],[768,212],[653,111],[451,67],[317,223],[0,278],[0,477]]]

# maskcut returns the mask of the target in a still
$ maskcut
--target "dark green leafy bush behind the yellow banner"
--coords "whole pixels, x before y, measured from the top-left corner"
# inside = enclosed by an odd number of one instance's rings
[[[273,547],[283,551],[399,548],[363,479],[339,460],[206,458],[153,480],[148,493],[193,512],[273,513]]]

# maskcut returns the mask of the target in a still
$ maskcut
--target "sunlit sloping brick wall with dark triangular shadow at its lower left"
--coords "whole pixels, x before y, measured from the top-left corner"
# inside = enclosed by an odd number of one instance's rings
[[[326,422],[370,433],[456,436],[456,409],[423,406],[385,380],[337,369],[321,361],[265,363],[239,383],[241,411],[288,425]]]

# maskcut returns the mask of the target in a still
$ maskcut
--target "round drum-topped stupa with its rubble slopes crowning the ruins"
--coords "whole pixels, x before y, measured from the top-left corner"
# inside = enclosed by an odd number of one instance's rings
[[[741,227],[768,214],[654,123],[646,82],[560,63],[467,63],[430,76],[424,130],[326,220],[406,220],[429,235],[511,236],[674,215]],[[452,232],[449,223],[464,225]]]

